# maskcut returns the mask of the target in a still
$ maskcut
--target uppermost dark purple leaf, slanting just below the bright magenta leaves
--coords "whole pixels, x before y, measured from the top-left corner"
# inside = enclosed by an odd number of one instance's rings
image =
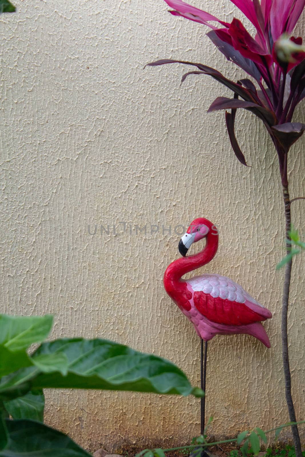
[[[255,80],[259,81],[261,79],[261,74],[257,69],[257,66],[249,58],[243,57],[239,51],[233,48],[230,43],[226,43],[219,37],[219,32],[210,30],[207,33],[209,39],[214,43],[214,45],[219,49],[225,57],[233,62],[234,64],[241,67],[246,73],[250,74]]]

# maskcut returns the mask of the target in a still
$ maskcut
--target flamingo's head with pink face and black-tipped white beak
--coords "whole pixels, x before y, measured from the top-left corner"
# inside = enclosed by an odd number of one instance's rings
[[[186,233],[179,241],[178,250],[180,254],[185,257],[192,244],[196,243],[200,239],[206,238],[209,233],[218,235],[215,225],[205,218],[194,219]]]

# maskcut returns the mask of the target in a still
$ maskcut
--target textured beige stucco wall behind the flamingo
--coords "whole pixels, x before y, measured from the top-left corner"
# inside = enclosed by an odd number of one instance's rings
[[[272,144],[251,114],[237,134],[252,168],[234,157],[223,113],[229,91],[156,58],[202,61],[236,78],[199,24],[162,0],[16,0],[1,16],[1,303],[10,314],[53,313],[52,337],[102,337],[154,352],[199,382],[199,340],[162,287],[179,237],[140,233],[205,216],[220,248],[204,271],[238,281],[274,313],[272,349],[248,336],[209,344],[211,433],[232,436],[288,420],[280,344],[283,217]],[[194,5],[202,5],[199,0]],[[229,19],[229,0],[206,0]],[[236,12],[235,12],[236,14]],[[302,111],[300,109],[300,114]],[[249,126],[248,122],[251,120]],[[245,129],[244,129],[245,127]],[[304,139],[291,153],[293,196],[304,195]],[[294,203],[302,229],[304,203]],[[101,224],[131,223],[122,234]],[[88,224],[97,234],[88,234]],[[304,258],[289,311],[293,390],[304,418]],[[199,433],[198,400],[139,393],[48,392],[47,421],[88,449],[123,442],[178,445]],[[304,433],[303,433],[304,437]]]

